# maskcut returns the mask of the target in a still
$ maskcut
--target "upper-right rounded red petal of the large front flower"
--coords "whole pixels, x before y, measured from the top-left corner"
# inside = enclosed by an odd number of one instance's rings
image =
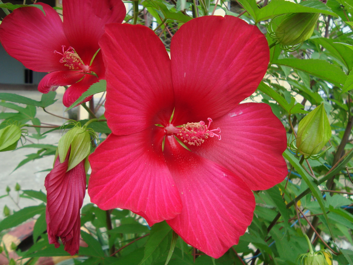
[[[255,92],[269,63],[265,36],[233,16],[185,23],[173,36],[170,55],[181,124],[230,111]]]

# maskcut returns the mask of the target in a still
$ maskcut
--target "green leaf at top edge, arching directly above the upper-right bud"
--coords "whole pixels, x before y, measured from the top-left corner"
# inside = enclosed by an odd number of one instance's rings
[[[303,4],[295,4],[285,0],[271,0],[268,5],[257,12],[256,22],[287,13],[323,13],[337,16],[325,4],[316,0],[307,0]]]

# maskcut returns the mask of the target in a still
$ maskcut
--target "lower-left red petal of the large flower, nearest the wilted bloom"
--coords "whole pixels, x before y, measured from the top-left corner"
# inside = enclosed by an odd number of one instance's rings
[[[152,133],[158,134],[153,129]],[[157,143],[148,140],[149,135],[151,129],[127,136],[110,134],[89,156],[88,193],[103,210],[129,209],[153,225],[174,218],[182,206],[163,159],[162,138]]]

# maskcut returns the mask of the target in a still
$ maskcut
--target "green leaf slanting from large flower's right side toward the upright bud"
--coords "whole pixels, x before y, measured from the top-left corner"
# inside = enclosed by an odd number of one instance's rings
[[[277,94],[275,90],[270,88],[267,84],[264,82],[261,82],[257,88],[260,90],[262,93],[265,93],[266,95],[270,96],[273,100],[275,100],[282,108],[284,108],[288,113],[290,114],[295,114],[295,113],[308,113],[305,110],[302,110],[304,108],[303,105],[300,103],[295,104],[295,99],[292,97],[291,99],[291,104],[289,104],[285,98],[283,98],[281,95]]]

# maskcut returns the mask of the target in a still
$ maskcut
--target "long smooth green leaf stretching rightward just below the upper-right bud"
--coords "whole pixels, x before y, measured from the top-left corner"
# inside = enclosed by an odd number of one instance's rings
[[[318,59],[280,59],[275,60],[273,64],[284,65],[309,73],[310,75],[322,78],[338,87],[342,87],[342,84],[346,82],[347,75],[337,67],[336,65],[330,64],[324,60]]]

